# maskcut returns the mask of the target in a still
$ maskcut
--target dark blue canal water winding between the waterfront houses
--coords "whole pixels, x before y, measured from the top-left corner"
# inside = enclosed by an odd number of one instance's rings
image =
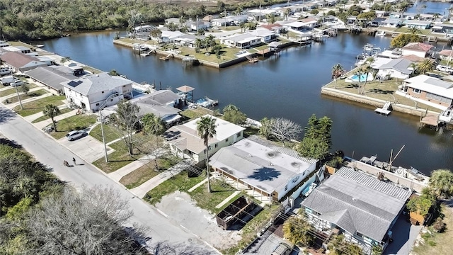
[[[189,85],[194,97],[218,99],[220,108],[238,106],[250,118],[289,118],[306,125],[311,114],[333,120],[333,150],[360,159],[377,154],[388,161],[406,147],[394,165],[413,166],[425,174],[433,169],[453,169],[452,132],[418,130],[418,117],[391,113],[377,115],[374,108],[327,96],[321,86],[331,81],[331,69],[340,63],[351,69],[366,43],[382,49],[391,38],[340,33],[311,47],[291,47],[256,64],[238,64],[225,69],[183,68],[180,60],[140,57],[127,47],[113,45],[114,31],[84,33],[42,42],[45,49],[98,69],[117,70],[137,82],[155,82],[162,89]],[[437,45],[442,47],[442,45]]]

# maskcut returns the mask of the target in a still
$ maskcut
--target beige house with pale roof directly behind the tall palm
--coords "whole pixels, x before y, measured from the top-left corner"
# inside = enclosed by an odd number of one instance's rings
[[[216,135],[208,141],[209,155],[213,155],[219,149],[242,140],[245,128],[211,115],[206,116],[216,120]],[[202,162],[206,159],[206,147],[204,141],[197,133],[198,120],[200,118],[191,120],[183,125],[173,126],[164,133],[164,137],[168,145],[170,145],[171,151],[178,157]]]

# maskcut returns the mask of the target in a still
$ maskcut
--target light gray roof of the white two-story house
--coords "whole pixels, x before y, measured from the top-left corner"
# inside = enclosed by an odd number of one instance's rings
[[[110,89],[115,89],[128,84],[132,84],[132,81],[122,77],[110,76],[106,72],[87,75],[86,77],[74,79],[69,82],[62,82],[62,86],[65,86],[84,96],[101,91],[108,91]]]

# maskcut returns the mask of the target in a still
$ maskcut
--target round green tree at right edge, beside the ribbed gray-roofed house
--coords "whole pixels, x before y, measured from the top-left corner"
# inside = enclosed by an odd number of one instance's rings
[[[453,195],[453,173],[447,169],[432,171],[430,188],[437,198],[450,198]]]

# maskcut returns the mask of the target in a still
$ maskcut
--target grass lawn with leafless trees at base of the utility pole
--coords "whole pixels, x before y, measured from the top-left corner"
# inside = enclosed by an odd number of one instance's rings
[[[108,154],[108,162],[105,162],[104,158],[98,159],[93,164],[98,166],[99,169],[105,171],[105,173],[111,173],[117,169],[122,168],[134,162],[135,160],[144,157],[147,153],[150,153],[149,147],[153,140],[147,138],[142,134],[132,135],[133,140],[136,141],[135,147],[133,149],[134,154],[130,155],[129,150],[127,149],[125,142],[123,140],[114,142],[109,145],[112,149],[115,149],[115,152]]]

